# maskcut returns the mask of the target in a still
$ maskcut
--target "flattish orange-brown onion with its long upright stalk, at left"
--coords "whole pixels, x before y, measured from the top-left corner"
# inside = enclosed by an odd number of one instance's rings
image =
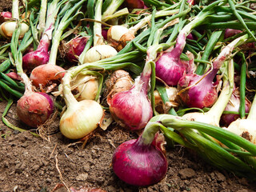
[[[65,74],[65,70],[61,66],[56,65],[58,46],[62,39],[63,31],[70,25],[70,22],[72,22],[78,14],[81,14],[79,10],[84,2],[86,2],[86,0],[79,1],[72,8],[66,10],[65,14],[59,14],[52,38],[49,61],[46,64],[35,67],[34,70],[31,71],[30,80],[33,82],[34,86],[46,87],[53,83],[58,84],[61,82],[61,79]],[[60,16],[62,16],[62,18],[60,18]]]

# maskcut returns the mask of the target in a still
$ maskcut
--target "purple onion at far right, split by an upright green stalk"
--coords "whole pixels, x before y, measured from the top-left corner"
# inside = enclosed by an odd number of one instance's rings
[[[226,111],[238,112],[239,111],[239,106],[240,106],[240,97],[239,97],[239,95],[231,94],[230,101],[233,104],[231,104],[229,102],[226,105],[225,110]],[[246,99],[246,113],[248,113],[249,110],[250,110],[250,102]],[[234,122],[238,118],[240,118],[239,114],[222,114],[221,124],[223,126],[229,126],[231,122]]]

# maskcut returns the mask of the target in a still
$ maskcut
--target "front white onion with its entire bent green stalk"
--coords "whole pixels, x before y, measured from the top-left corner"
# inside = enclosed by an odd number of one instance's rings
[[[90,70],[118,70],[128,67],[138,74],[141,71],[140,67],[130,62],[138,57],[141,57],[140,53],[134,51],[129,54],[105,58],[98,62],[74,66],[66,71],[64,78],[62,78],[61,90],[66,102],[66,110],[62,114],[59,125],[62,134],[66,136],[66,138],[78,139],[86,137],[86,135],[90,134],[102,123],[104,115],[102,106],[95,101],[98,100],[98,97],[78,102],[77,98],[75,98],[74,94],[71,92],[72,88],[70,83],[72,82],[72,86],[78,86],[78,84],[74,84],[74,82],[81,76],[82,78],[84,78],[84,76],[94,78],[97,74],[95,71]],[[101,87],[102,82],[99,82],[98,93],[100,93]]]

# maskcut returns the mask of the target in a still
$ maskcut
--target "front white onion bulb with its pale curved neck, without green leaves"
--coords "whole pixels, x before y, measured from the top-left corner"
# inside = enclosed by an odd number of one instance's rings
[[[74,69],[74,73],[75,69]],[[71,92],[70,80],[74,75],[68,71],[62,79],[63,97],[66,110],[60,120],[60,130],[66,138],[78,139],[90,134],[102,121],[104,111],[98,102],[82,100],[78,102]]]

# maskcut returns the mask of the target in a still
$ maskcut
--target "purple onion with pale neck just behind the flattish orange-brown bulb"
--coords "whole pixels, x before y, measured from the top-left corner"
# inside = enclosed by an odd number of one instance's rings
[[[49,61],[50,54],[48,48],[50,41],[46,35],[42,36],[38,49],[25,54],[22,58],[22,67],[24,70],[31,72],[35,67],[46,64]]]

